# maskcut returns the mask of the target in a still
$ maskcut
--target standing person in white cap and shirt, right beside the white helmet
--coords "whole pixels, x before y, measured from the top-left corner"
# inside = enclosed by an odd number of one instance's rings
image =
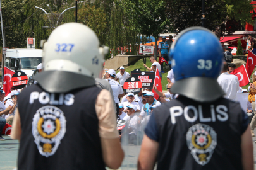
[[[123,96],[125,96],[125,94],[123,93],[123,89],[121,84],[119,84],[119,82],[114,80],[114,77],[116,77],[116,72],[113,69],[109,69],[108,71],[106,71],[106,75],[105,77],[107,78],[106,80],[109,82],[112,91],[113,91],[113,96],[114,96],[114,102],[116,103],[116,115],[118,115],[119,112],[119,99]]]

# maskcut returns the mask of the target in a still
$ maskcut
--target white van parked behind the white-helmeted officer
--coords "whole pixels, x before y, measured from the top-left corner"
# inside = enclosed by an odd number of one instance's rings
[[[37,65],[39,65],[41,62],[42,50],[16,48],[8,49],[6,51],[4,66],[8,67],[12,71],[15,71],[15,66],[17,66],[18,71],[23,71],[28,77],[30,77],[37,69]]]

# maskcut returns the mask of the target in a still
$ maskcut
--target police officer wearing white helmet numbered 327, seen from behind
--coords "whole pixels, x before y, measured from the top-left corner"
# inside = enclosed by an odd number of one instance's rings
[[[18,169],[117,169],[123,150],[111,94],[95,86],[104,54],[94,31],[66,23],[44,44],[38,84],[22,91],[11,132]],[[100,76],[101,77],[101,76]]]

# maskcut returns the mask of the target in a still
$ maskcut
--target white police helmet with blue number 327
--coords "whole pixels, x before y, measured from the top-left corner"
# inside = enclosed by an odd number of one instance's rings
[[[65,23],[44,43],[44,72],[35,76],[43,89],[65,93],[93,86],[99,77],[108,47],[100,47],[97,35],[80,23]]]

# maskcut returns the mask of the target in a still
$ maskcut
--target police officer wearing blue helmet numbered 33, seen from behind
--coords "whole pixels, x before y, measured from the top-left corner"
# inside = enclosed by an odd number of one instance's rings
[[[217,83],[224,62],[218,38],[205,28],[188,28],[169,57],[176,80],[171,91],[180,96],[154,109],[138,169],[157,162],[157,169],[252,170],[248,117],[238,102],[222,97]]]

